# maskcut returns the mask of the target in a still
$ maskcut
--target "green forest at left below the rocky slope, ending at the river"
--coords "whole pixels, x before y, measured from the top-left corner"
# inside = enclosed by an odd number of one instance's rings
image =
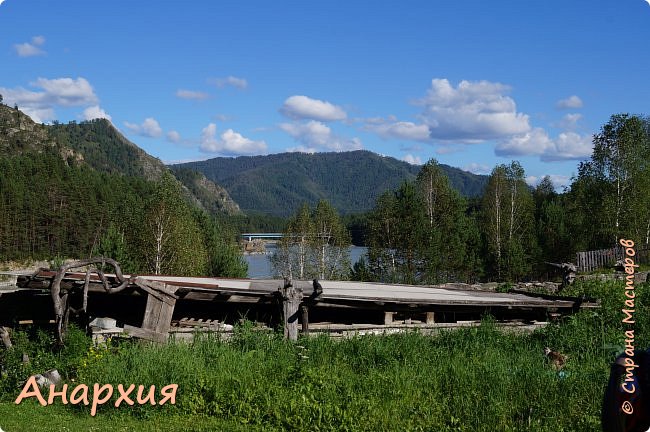
[[[55,151],[0,158],[0,260],[107,256],[130,273],[245,277],[235,234],[160,180],[68,164]]]

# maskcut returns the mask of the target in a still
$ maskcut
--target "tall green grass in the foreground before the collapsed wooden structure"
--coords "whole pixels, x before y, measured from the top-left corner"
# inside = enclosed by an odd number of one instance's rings
[[[42,331],[0,353],[0,428],[18,430],[596,431],[609,364],[622,349],[623,283],[589,282],[568,295],[602,299],[532,334],[504,334],[489,318],[437,336],[417,332],[283,341],[237,329],[229,342],[91,348],[73,331],[53,350]],[[636,340],[650,345],[647,286],[637,287]],[[558,373],[544,347],[569,355]],[[33,359],[28,366],[20,354]],[[178,384],[175,405],[90,408],[33,400],[16,406],[29,374],[56,367],[70,384]],[[74,379],[74,382],[72,380]]]

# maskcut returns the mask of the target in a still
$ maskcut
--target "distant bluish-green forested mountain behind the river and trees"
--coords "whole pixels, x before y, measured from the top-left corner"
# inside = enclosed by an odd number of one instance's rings
[[[321,199],[343,214],[364,212],[386,190],[413,180],[421,168],[364,150],[219,157],[171,167],[202,172],[226,188],[245,212],[277,216],[290,215],[301,204],[314,205]],[[441,168],[462,195],[477,196],[486,184],[486,176],[447,165]]]

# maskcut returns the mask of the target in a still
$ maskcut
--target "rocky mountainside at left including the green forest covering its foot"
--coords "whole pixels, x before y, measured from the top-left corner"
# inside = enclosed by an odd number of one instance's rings
[[[134,273],[246,275],[216,217],[239,212],[227,193],[199,173],[183,186],[109,122],[44,126],[0,104],[0,149],[0,261],[101,255]]]

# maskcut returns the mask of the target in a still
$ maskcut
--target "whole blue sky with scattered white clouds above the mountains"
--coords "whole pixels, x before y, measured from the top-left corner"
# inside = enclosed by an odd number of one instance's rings
[[[0,34],[5,103],[165,162],[363,148],[559,186],[650,100],[645,0],[5,0]]]

